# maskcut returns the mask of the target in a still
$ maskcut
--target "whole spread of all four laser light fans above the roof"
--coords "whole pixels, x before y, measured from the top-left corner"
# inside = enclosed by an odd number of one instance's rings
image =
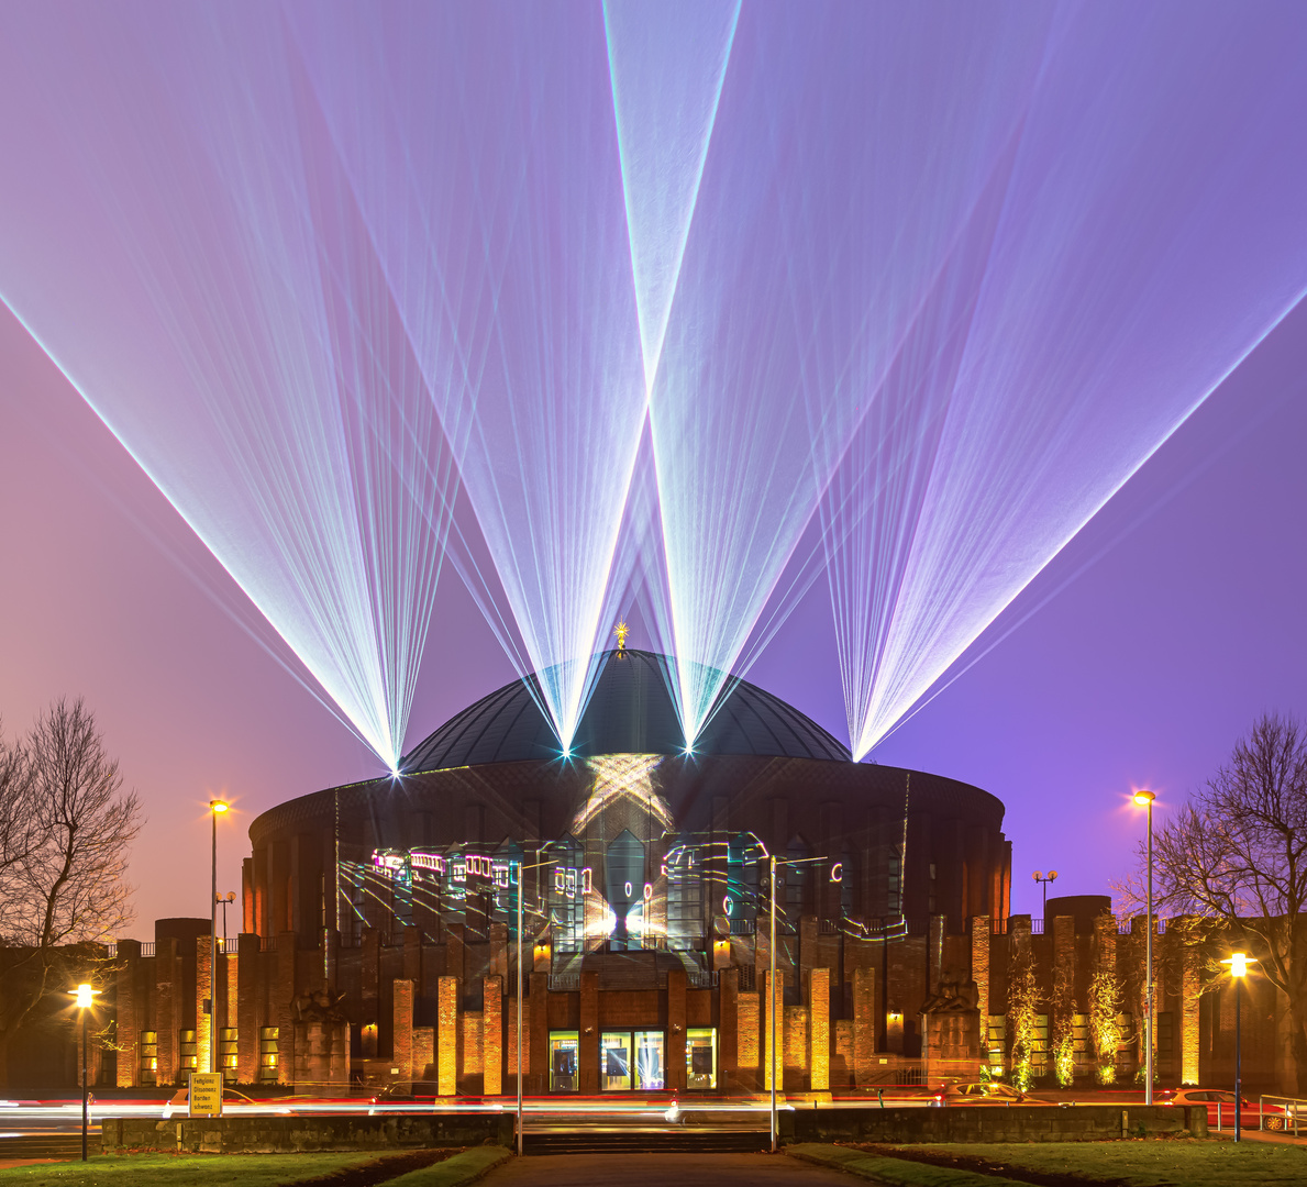
[[[693,752],[805,533],[859,760],[1302,298],[1304,51],[1274,4],[10,5],[0,294],[388,769],[447,556],[561,753],[631,605]]]

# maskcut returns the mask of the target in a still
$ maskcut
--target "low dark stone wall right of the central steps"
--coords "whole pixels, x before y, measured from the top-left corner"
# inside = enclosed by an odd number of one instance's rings
[[[1163,1133],[1208,1136],[1205,1105],[796,1109],[780,1114],[786,1141],[1102,1141]]]

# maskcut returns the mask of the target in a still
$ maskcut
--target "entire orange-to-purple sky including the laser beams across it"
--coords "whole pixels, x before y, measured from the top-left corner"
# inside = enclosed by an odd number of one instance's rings
[[[750,654],[826,492],[870,744],[1307,280],[1287,5],[996,5],[980,37],[755,3],[716,41],[639,5],[127,12],[0,20],[30,115],[0,123],[0,716],[97,714],[146,805],[146,937],[205,912],[212,795],[237,889],[255,814],[380,763],[24,324],[344,711],[384,716],[378,753],[427,621],[437,438],[542,667],[589,650],[638,458],[660,532],[633,539],[708,669]],[[1128,871],[1132,787],[1165,816],[1257,714],[1307,712],[1304,331],[1307,307],[873,750],[1006,803],[1018,911],[1033,869]],[[375,456],[335,450],[356,413]],[[515,675],[452,563],[434,599],[409,746]],[[384,697],[350,685],[378,633],[403,637]],[[825,578],[746,675],[848,739]]]

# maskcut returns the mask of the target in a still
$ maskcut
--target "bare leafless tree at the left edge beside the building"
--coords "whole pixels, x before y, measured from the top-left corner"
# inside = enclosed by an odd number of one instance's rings
[[[90,710],[56,701],[26,740],[0,739],[0,1085],[8,1051],[41,1003],[93,963],[89,949],[131,920],[127,854],[135,792]]]

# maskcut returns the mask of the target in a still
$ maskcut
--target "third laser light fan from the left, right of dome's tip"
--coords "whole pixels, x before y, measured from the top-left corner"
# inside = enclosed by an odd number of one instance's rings
[[[1048,20],[741,12],[650,396],[690,745],[1010,154]]]

